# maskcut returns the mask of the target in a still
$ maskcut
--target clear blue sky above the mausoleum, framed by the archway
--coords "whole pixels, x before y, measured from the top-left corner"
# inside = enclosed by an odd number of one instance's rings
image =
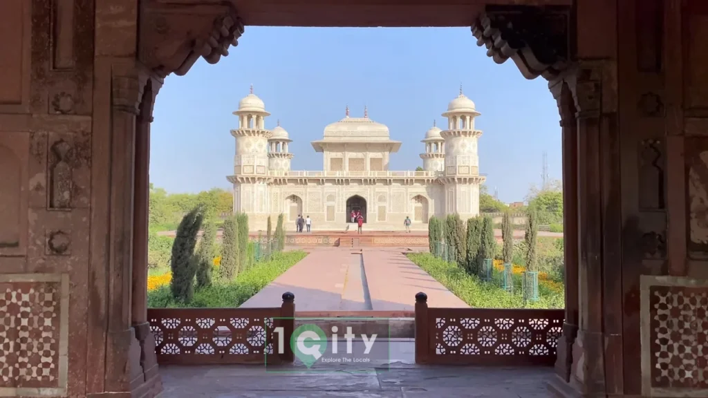
[[[455,98],[465,95],[481,113],[476,128],[479,171],[490,193],[523,200],[539,184],[542,154],[549,175],[561,177],[561,129],[556,103],[542,78],[527,80],[513,62],[498,65],[476,46],[469,28],[246,27],[238,47],[218,64],[200,59],[186,76],[169,76],[154,107],[150,181],[171,193],[231,188],[237,127],[232,112],[254,93],[290,132],[293,170],[321,170],[309,144],[344,117],[369,117],[402,141],[390,169],[422,166],[420,140]]]

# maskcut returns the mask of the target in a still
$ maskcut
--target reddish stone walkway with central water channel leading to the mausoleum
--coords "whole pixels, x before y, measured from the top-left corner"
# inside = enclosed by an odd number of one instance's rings
[[[395,248],[316,248],[244,302],[278,307],[283,292],[295,294],[298,312],[413,311],[417,292],[434,307],[468,307]]]

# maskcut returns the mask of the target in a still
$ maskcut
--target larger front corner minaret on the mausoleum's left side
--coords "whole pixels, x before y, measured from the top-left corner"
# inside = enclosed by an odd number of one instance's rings
[[[253,93],[239,101],[239,128],[231,130],[236,138],[234,175],[227,179],[234,184],[234,212],[248,212],[259,219],[268,212],[268,139],[265,118],[270,116],[265,104]],[[253,214],[256,213],[256,214]],[[259,214],[260,213],[260,214]],[[258,224],[260,220],[255,220]]]

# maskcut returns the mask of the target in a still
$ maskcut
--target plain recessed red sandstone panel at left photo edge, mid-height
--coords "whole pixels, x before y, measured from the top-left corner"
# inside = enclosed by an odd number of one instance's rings
[[[22,256],[27,249],[29,136],[0,134],[0,256]]]

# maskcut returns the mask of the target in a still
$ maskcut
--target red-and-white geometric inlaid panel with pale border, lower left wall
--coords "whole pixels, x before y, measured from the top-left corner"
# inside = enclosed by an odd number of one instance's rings
[[[67,287],[62,275],[0,275],[0,396],[65,394]]]

